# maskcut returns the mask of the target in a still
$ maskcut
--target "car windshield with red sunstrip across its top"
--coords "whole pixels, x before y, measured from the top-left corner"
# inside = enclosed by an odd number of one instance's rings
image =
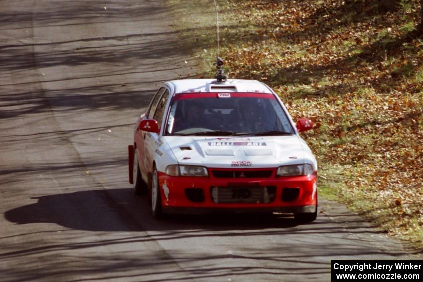
[[[176,94],[167,135],[291,135],[291,123],[273,94]]]

